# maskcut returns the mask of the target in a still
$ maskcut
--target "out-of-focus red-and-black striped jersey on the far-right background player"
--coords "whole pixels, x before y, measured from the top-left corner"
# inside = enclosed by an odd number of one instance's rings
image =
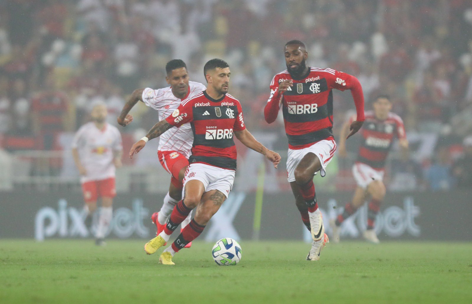
[[[349,123],[354,121],[351,117]],[[362,143],[356,162],[367,164],[374,169],[383,169],[394,137],[406,139],[405,126],[400,116],[388,113],[386,120],[379,120],[373,111],[365,112],[365,121],[359,131]]]

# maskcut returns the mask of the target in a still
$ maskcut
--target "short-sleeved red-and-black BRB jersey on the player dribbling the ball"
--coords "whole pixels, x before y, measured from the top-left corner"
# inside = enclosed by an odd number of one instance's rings
[[[190,123],[194,133],[192,156],[189,163],[210,164],[223,169],[236,170],[234,131],[243,131],[243,110],[237,99],[229,94],[212,99],[202,91],[180,106],[166,121],[179,127]]]

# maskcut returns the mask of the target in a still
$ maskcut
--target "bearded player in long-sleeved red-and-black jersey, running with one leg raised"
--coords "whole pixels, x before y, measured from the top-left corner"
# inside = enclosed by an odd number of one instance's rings
[[[357,119],[350,126],[348,138],[362,126],[364,98],[361,84],[354,76],[330,68],[306,66],[308,53],[302,41],[288,41],[284,54],[287,70],[272,79],[264,116],[267,123],[274,122],[282,106],[288,137],[287,178],[302,221],[312,233],[312,249],[307,260],[317,261],[328,237],[316,202],[313,176],[318,171],[325,176],[326,166],[336,151],[331,130],[332,89],[351,90],[354,99]]]

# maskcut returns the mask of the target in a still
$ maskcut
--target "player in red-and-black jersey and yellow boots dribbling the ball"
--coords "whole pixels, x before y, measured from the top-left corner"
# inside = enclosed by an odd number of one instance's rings
[[[129,157],[138,153],[152,140],[184,123],[191,123],[194,133],[192,156],[184,178],[184,199],[172,210],[164,230],[144,245],[147,254],[153,254],[170,238],[172,232],[196,209],[189,225],[171,246],[159,257],[159,263],[174,265],[172,257],[179,249],[197,238],[228,197],[233,188],[236,171],[236,146],[233,135],[246,147],[266,156],[277,168],[280,156],[254,139],[244,125],[239,101],[229,95],[230,70],[221,59],[211,59],[203,69],[208,87],[193,98],[186,99],[163,121],[160,121],[141,140],[136,142]]]

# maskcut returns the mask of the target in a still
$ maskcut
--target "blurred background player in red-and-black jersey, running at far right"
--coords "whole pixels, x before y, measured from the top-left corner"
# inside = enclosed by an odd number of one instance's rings
[[[385,197],[385,185],[382,178],[385,170],[385,160],[395,136],[398,138],[404,157],[406,157],[408,151],[408,140],[406,140],[403,121],[400,116],[390,112],[392,109],[390,98],[386,95],[380,95],[374,100],[372,106],[374,110],[365,113],[364,125],[360,132],[362,144],[353,166],[353,175],[357,182],[353,200],[346,204],[344,212],[338,215],[336,221],[331,219],[329,223],[333,228],[335,243],[339,242],[341,223],[364,204],[367,194],[370,194],[371,202],[367,213],[367,230],[364,230],[363,237],[371,243],[379,243],[379,238],[375,234],[374,223],[379,213],[380,203]],[[339,140],[339,156],[341,157],[347,155],[344,137],[353,120],[354,117],[351,117],[341,130]]]

